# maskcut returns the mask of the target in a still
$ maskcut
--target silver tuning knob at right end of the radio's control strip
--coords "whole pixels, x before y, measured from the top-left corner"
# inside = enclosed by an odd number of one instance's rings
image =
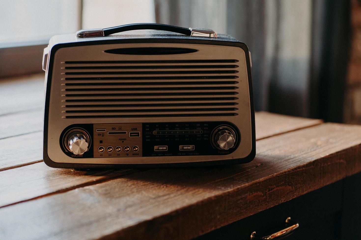
[[[236,144],[236,134],[232,128],[223,126],[214,131],[213,144],[218,149],[228,150]]]

